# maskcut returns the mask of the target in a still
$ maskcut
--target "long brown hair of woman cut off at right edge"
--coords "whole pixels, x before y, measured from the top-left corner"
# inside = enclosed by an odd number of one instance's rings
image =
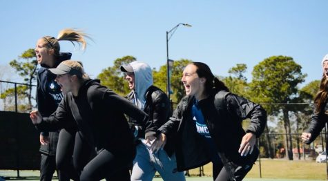
[[[328,95],[328,81],[325,76],[325,73],[322,75],[322,79],[320,81],[319,91],[314,97],[314,104],[315,104],[315,112],[320,113],[322,108],[325,106],[325,102]]]

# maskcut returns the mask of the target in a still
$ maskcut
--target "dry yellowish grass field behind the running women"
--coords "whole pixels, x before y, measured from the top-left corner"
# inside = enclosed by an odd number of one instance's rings
[[[314,161],[302,161],[302,160],[261,160],[261,174],[260,178],[260,162],[256,162],[253,169],[248,173],[244,179],[246,181],[300,181],[300,180],[326,180],[326,164],[316,163]],[[210,181],[212,175],[212,165],[206,164],[204,166],[204,175],[197,177],[200,173],[199,169],[193,169],[189,171],[191,177],[187,177],[187,181],[204,180]],[[0,170],[0,176],[6,177],[6,180],[39,180],[39,171],[20,171],[21,178],[15,178],[17,171],[12,170]],[[0,179],[1,180],[1,179]],[[55,179],[56,180],[56,179]],[[159,181],[162,178],[154,178],[153,180]]]

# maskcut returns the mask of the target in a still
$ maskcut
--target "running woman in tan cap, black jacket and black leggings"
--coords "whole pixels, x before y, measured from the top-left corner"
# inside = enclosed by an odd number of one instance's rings
[[[78,61],[62,61],[49,71],[57,75],[64,99],[50,117],[32,111],[32,123],[41,131],[77,128],[73,150],[73,163],[79,172],[76,180],[130,180],[128,168],[136,149],[125,115],[144,128],[144,139],[150,141],[156,127],[148,115],[99,80],[89,79]],[[58,144],[57,150],[60,147]]]

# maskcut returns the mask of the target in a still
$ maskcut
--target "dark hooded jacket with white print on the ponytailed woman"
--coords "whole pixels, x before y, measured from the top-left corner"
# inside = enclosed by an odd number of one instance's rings
[[[60,53],[54,67],[61,61],[70,59],[71,53]],[[45,66],[45,65],[43,65]],[[43,117],[49,117],[54,113],[63,98],[60,86],[55,82],[56,75],[48,71],[48,67],[41,67],[37,72],[37,109]],[[41,145],[39,151],[46,155],[56,155],[59,131],[43,132],[44,136],[49,136],[49,144]]]

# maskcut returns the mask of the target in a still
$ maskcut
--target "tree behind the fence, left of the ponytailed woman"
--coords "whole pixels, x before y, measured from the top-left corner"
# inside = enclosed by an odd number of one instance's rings
[[[37,79],[37,57],[35,55],[35,50],[32,48],[26,50],[19,56],[19,60],[14,59],[10,61],[9,64],[17,71],[19,76],[23,77],[24,82],[30,85],[28,88],[20,89],[23,91],[20,93],[20,96],[25,96],[28,98],[27,105],[23,105],[23,102],[19,104],[22,108],[26,108],[21,111],[32,111],[32,99],[35,99],[32,97],[32,83],[34,83]],[[14,88],[9,88],[1,94],[1,97],[12,97],[13,91],[15,91]],[[21,99],[23,98],[24,97],[21,97]]]

